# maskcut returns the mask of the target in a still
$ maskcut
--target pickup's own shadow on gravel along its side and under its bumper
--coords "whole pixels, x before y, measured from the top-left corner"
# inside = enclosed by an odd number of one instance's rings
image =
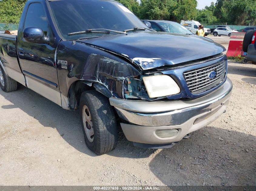
[[[85,145],[78,110],[64,110],[57,104],[21,84],[19,84],[17,91],[6,93],[0,90],[0,94],[12,103],[10,105],[3,105],[3,109],[21,109],[29,116],[38,120],[44,127],[56,129],[62,138],[78,151],[90,156],[96,156]],[[146,158],[152,154],[153,150],[135,148],[133,144],[125,138],[121,127],[118,128],[118,135],[118,146],[110,155],[128,157],[125,156],[128,154],[131,158]],[[124,150],[124,148],[126,149]],[[138,155],[138,153],[145,153],[145,151],[147,153],[146,155]]]

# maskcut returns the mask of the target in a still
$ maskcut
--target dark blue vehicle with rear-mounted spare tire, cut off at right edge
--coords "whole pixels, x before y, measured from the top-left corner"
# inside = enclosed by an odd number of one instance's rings
[[[247,30],[243,40],[243,51],[247,53],[246,60],[256,64],[256,30]]]

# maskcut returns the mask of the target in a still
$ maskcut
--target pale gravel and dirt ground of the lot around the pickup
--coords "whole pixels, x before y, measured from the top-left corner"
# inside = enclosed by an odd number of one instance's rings
[[[256,65],[228,65],[227,112],[170,149],[135,148],[120,131],[96,156],[77,111],[21,85],[0,91],[0,185],[256,185]]]

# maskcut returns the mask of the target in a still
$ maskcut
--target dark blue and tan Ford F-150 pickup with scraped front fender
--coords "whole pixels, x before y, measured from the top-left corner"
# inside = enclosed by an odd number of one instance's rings
[[[19,82],[79,109],[96,154],[116,147],[119,123],[135,146],[170,148],[230,100],[223,46],[153,31],[111,0],[28,0],[18,35],[0,34],[0,46],[2,90]]]

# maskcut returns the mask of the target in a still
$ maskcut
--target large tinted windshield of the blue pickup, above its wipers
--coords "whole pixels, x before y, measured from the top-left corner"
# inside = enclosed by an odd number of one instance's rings
[[[109,35],[99,33],[68,35],[88,29],[123,31],[134,27],[148,28],[128,8],[114,1],[62,0],[49,1],[49,5],[60,33],[67,40]]]

